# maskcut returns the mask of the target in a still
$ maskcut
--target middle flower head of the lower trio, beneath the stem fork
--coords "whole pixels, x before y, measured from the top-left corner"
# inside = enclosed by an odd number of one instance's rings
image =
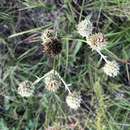
[[[57,76],[57,71],[51,71],[45,78],[45,88],[50,92],[56,92],[61,86],[61,81]]]

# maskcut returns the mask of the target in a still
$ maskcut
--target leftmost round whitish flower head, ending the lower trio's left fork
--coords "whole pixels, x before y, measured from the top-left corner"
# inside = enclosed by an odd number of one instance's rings
[[[34,89],[30,81],[23,81],[19,84],[18,94],[22,97],[30,97],[33,95]]]

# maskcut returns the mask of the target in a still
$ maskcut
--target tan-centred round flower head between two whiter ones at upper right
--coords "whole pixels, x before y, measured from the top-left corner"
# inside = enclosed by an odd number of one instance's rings
[[[88,45],[92,48],[92,50],[102,50],[106,47],[107,42],[106,38],[102,33],[92,34],[89,37],[86,37]]]

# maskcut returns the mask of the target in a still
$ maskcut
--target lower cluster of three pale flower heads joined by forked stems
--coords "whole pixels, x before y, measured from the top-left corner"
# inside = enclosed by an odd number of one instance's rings
[[[63,84],[68,90],[68,95],[66,97],[67,105],[74,110],[77,110],[80,107],[81,96],[76,92],[70,92],[70,89],[68,87],[69,85],[65,83],[65,81],[62,79],[57,71],[51,70],[46,73],[42,78],[44,79],[43,81],[45,83],[45,89],[50,92],[56,92]],[[34,89],[31,88],[31,86],[32,84],[38,83],[40,80],[38,79],[38,81],[35,81],[34,83],[31,83],[30,81],[21,82],[18,87],[18,94],[20,94],[22,97],[32,96]]]

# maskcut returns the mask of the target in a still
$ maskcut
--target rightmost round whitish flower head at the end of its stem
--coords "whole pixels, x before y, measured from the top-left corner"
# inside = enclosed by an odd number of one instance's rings
[[[115,77],[119,74],[119,64],[116,61],[108,61],[104,67],[103,71],[110,77]]]

